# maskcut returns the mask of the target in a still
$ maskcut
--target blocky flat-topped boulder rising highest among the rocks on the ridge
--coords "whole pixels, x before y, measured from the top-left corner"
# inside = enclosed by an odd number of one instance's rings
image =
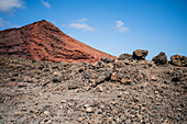
[[[133,52],[133,59],[145,59],[145,57],[147,56],[148,50],[143,50],[143,49],[136,49]]]

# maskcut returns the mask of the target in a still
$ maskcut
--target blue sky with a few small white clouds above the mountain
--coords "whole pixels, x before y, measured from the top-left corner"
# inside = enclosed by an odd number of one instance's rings
[[[114,56],[187,56],[187,0],[0,0],[0,30],[40,20]]]

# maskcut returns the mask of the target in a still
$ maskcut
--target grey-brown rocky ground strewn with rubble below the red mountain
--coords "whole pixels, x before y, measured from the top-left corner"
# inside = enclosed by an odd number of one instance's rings
[[[1,124],[187,123],[187,67],[0,56]]]

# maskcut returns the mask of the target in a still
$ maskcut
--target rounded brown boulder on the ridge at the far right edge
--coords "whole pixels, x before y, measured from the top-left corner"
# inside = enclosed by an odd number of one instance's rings
[[[173,55],[170,57],[170,64],[175,66],[187,66],[187,57],[182,55]]]

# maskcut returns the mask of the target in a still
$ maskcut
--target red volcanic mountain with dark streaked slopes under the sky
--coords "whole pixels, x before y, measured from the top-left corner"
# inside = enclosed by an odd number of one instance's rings
[[[117,58],[66,35],[45,20],[0,31],[0,55],[48,61],[95,63],[102,56]]]

